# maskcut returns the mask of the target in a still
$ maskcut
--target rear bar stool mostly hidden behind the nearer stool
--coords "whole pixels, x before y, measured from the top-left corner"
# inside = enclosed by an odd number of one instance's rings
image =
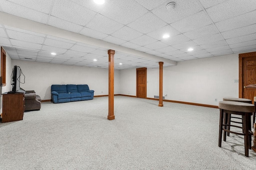
[[[250,104],[252,103],[252,100],[250,100],[250,99],[244,99],[244,98],[223,98],[223,101],[243,102],[243,103],[250,103]],[[225,115],[224,115],[224,121],[225,121],[226,119],[228,119],[228,124],[229,124],[229,125],[230,125],[231,122],[242,124],[242,121],[240,121],[240,122],[238,122],[238,121],[232,121],[231,118],[234,118],[234,119],[242,119],[242,117],[232,117],[231,114],[228,114],[228,117],[227,117],[227,118],[226,118]],[[251,128],[251,127],[249,127],[249,128]],[[228,130],[230,130],[230,126],[228,126]],[[226,133],[225,133],[225,134],[226,134]],[[227,135],[229,136],[229,132],[227,133]],[[252,140],[251,137],[250,137],[250,140]],[[251,147],[252,147],[252,146],[250,145],[250,148],[251,148]]]

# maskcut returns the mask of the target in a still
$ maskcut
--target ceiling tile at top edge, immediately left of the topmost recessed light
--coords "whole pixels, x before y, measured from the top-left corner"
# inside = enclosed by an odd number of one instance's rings
[[[69,0],[55,0],[51,13],[52,16],[82,26],[86,25],[96,14],[96,12]]]

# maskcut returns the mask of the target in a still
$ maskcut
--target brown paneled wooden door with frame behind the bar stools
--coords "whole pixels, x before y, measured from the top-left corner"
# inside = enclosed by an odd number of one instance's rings
[[[254,103],[256,88],[252,85],[256,84],[256,52],[240,54],[239,61],[242,66],[240,68],[240,71],[242,71],[240,86],[242,87],[239,87],[242,92],[242,98],[250,99]],[[240,94],[239,97],[241,97]]]

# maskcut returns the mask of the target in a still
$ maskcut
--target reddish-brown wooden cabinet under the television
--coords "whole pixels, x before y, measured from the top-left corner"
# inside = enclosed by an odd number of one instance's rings
[[[9,121],[23,120],[24,114],[24,93],[4,93],[2,123]]]

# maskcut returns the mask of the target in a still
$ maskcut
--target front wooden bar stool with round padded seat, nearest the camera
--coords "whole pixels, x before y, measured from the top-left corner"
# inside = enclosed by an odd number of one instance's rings
[[[222,131],[224,133],[234,133],[236,135],[244,136],[244,154],[246,157],[249,157],[249,143],[252,141],[249,140],[249,136],[252,135],[250,125],[250,116],[255,111],[255,106],[253,104],[243,103],[243,102],[231,102],[231,101],[221,101],[219,102],[220,108],[220,126],[219,126],[219,143],[218,146],[221,147],[222,143]],[[224,113],[225,117],[228,117],[229,114],[242,115],[242,127],[236,125],[228,124],[227,119],[224,122]],[[242,133],[230,131],[227,129],[228,126],[237,127],[242,129]],[[223,137],[223,141],[226,141],[226,135]]]

